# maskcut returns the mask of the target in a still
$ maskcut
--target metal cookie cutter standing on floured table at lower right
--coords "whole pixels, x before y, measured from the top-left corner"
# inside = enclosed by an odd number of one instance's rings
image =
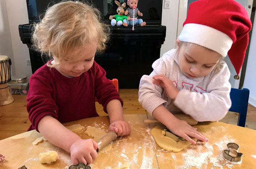
[[[238,153],[239,146],[236,143],[228,143],[228,150],[223,151],[223,157],[231,162],[239,162],[242,160],[242,153]]]

